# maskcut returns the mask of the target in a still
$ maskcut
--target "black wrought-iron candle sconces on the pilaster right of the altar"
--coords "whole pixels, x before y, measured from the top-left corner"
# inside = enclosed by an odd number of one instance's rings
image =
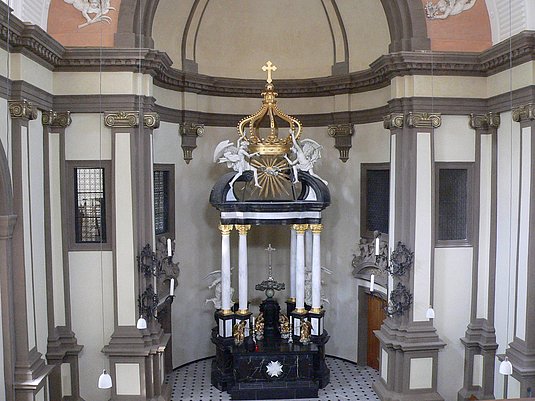
[[[376,264],[382,266],[383,270],[390,276],[400,279],[405,276],[414,261],[414,252],[409,250],[401,241],[398,241],[396,248],[390,254],[381,253],[379,237],[381,233],[375,232],[375,258]],[[412,294],[409,289],[398,281],[396,287],[390,292],[388,305],[385,311],[388,316],[401,316],[410,309],[412,305]]]

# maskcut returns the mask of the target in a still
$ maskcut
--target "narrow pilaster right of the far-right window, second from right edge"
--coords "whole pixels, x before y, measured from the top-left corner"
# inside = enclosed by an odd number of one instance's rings
[[[470,323],[461,338],[465,347],[463,388],[458,400],[494,397],[496,331],[494,293],[496,277],[496,187],[497,113],[470,114],[470,128],[476,132],[474,174],[474,233]],[[488,227],[488,229],[487,229]],[[474,382],[476,359],[482,366],[481,382]],[[479,364],[478,364],[479,365]],[[479,375],[477,375],[479,376]]]

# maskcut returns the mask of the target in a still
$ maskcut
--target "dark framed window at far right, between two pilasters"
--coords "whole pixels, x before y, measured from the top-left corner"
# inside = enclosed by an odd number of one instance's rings
[[[469,245],[472,227],[471,164],[438,163],[436,181],[437,245]]]

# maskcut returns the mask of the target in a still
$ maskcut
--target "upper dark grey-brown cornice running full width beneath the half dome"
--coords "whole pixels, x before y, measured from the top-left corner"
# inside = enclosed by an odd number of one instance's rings
[[[8,7],[0,2],[0,46],[7,40]],[[21,52],[52,71],[139,71],[175,91],[212,96],[254,97],[263,80],[211,77],[172,68],[166,53],[142,49],[65,48],[40,27],[11,15],[10,50]],[[3,42],[3,44],[2,44]],[[510,46],[511,45],[511,46]],[[141,60],[140,60],[141,58]],[[317,97],[370,91],[390,85],[404,75],[489,76],[512,65],[535,60],[535,31],[523,31],[481,53],[397,52],[379,57],[370,68],[345,75],[278,80],[279,97]]]

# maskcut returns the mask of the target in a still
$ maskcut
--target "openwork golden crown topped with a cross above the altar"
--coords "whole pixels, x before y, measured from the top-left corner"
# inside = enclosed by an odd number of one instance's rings
[[[255,113],[240,120],[238,123],[238,133],[240,137],[249,142],[249,152],[258,152],[260,155],[279,156],[289,152],[292,147],[292,137],[290,131],[293,131],[295,138],[301,135],[302,126],[299,120],[285,114],[277,107],[277,92],[271,79],[271,73],[277,69],[271,61],[262,67],[267,71],[267,84],[262,96],[262,107]],[[264,120],[269,118],[267,135],[260,134],[260,128]],[[288,136],[279,138],[279,127],[277,119],[286,122],[289,125]],[[266,124],[267,125],[267,124]]]

